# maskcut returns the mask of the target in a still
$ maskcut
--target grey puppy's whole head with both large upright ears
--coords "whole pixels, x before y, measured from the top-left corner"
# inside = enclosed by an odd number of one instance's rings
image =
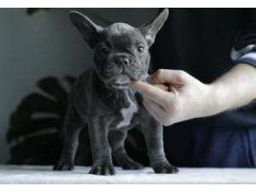
[[[102,27],[85,15],[73,11],[70,19],[84,40],[95,50],[96,73],[109,88],[125,89],[131,81],[148,76],[149,47],[154,44],[168,16],[164,9],[154,20],[141,27],[113,23]]]

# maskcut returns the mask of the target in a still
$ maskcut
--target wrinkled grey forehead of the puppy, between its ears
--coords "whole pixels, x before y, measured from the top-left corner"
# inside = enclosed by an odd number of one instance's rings
[[[107,41],[115,48],[125,48],[134,45],[147,45],[142,32],[136,27],[125,23],[113,23],[102,32],[102,41]]]

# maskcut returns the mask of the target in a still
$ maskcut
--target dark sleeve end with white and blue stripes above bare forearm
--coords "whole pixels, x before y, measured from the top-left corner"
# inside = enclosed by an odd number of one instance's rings
[[[230,56],[235,64],[247,63],[256,67],[256,23],[238,32]]]

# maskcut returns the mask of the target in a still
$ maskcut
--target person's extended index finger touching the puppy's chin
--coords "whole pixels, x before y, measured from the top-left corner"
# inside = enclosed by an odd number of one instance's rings
[[[172,92],[161,90],[152,84],[144,83],[142,81],[134,82],[130,86],[132,89],[137,90],[137,92],[141,93],[143,96],[159,103],[160,105],[163,105],[163,102],[166,103],[167,98],[172,95]]]

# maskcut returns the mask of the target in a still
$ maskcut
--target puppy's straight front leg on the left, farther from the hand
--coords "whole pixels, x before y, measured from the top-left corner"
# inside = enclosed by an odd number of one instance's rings
[[[90,174],[114,175],[111,148],[108,143],[108,121],[102,118],[89,120],[92,167]]]

